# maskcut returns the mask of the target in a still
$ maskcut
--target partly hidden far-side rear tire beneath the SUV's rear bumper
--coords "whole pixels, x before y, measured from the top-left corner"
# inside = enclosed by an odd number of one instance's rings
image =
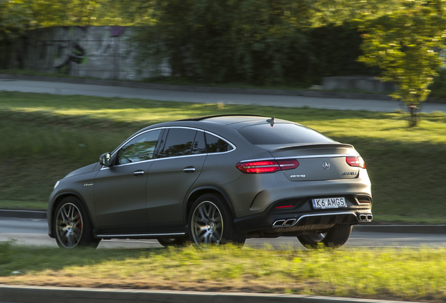
[[[306,234],[297,239],[308,249],[340,248],[349,240],[350,234],[351,225],[336,224],[325,234]]]

